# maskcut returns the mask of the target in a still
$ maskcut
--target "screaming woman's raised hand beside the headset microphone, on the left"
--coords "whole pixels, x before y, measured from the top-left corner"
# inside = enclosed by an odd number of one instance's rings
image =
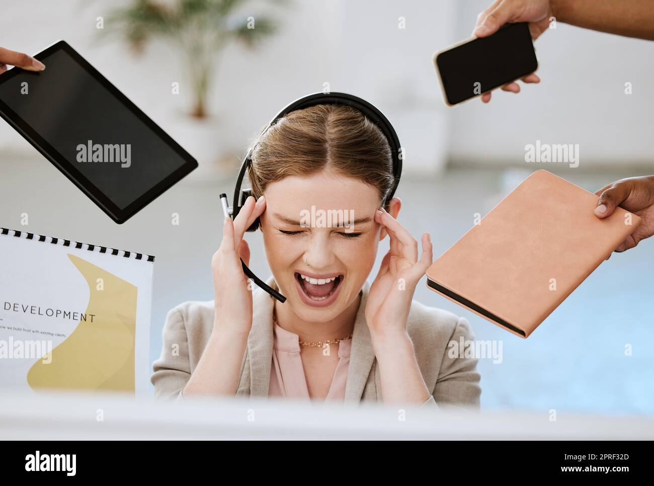
[[[222,243],[211,258],[215,293],[214,329],[249,334],[252,328],[252,283],[243,272],[241,258],[250,263],[250,249],[243,239],[245,230],[266,210],[266,198],[256,203],[249,196],[237,217],[226,217],[222,226]]]

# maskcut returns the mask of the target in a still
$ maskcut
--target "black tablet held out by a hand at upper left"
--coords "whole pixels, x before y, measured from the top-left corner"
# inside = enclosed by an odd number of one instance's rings
[[[198,162],[65,41],[0,75],[0,115],[117,223]]]

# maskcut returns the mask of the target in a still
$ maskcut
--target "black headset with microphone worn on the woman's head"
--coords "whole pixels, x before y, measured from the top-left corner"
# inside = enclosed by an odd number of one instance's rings
[[[273,118],[270,123],[267,125],[266,129],[264,129],[261,134],[259,135],[258,139],[261,138],[261,136],[266,133],[266,131],[273,126],[279,118],[283,118],[286,116],[286,114],[296,111],[296,110],[301,110],[304,108],[308,107],[313,107],[315,105],[326,105],[326,104],[332,104],[332,105],[347,105],[349,107],[353,107],[354,109],[357,109],[361,113],[363,113],[368,120],[376,124],[379,129],[384,133],[388,140],[388,145],[390,145],[390,152],[392,155],[393,159],[393,176],[395,179],[395,182],[393,183],[393,186],[388,193],[388,196],[386,200],[384,201],[384,204],[387,204],[388,201],[391,200],[393,195],[395,194],[395,190],[398,188],[398,184],[400,183],[400,176],[402,175],[402,159],[404,158],[404,153],[402,150],[402,147],[400,147],[400,141],[398,139],[397,133],[395,133],[395,129],[393,126],[390,124],[388,121],[388,118],[384,116],[377,107],[374,105],[371,105],[371,103],[368,103],[368,101],[361,99],[360,97],[356,97],[351,94],[347,93],[313,93],[306,95],[304,97],[301,97],[299,99],[296,99],[290,105],[286,106],[282,111],[280,111],[277,115],[275,115],[275,118]],[[252,195],[252,189],[241,189],[241,184],[243,184],[243,177],[245,176],[245,173],[247,172],[247,169],[250,164],[252,164],[252,159],[250,156],[252,155],[252,152],[254,151],[254,148],[256,147],[257,141],[252,145],[252,147],[248,150],[245,159],[243,160],[243,164],[241,164],[241,170],[239,171],[239,175],[236,179],[236,187],[234,189],[234,197],[233,197],[233,202],[232,206],[227,205],[227,195],[226,194],[220,194],[220,201],[222,203],[223,211],[226,213],[226,215],[230,215],[232,219],[236,218],[237,215],[239,214],[239,211],[241,211],[241,208],[245,204],[245,200],[249,196]],[[240,198],[240,199],[239,199]],[[250,225],[249,228],[247,228],[247,231],[252,232],[256,231],[259,228],[259,218],[256,218],[254,222]],[[241,264],[243,265],[243,272],[245,275],[250,277],[256,285],[260,286],[266,292],[268,292],[271,296],[279,300],[279,302],[286,302],[286,297],[284,297],[282,294],[277,292],[274,288],[271,288],[270,286],[266,285],[264,281],[259,279],[252,271],[247,267],[245,262],[243,262],[243,259],[241,259]]]

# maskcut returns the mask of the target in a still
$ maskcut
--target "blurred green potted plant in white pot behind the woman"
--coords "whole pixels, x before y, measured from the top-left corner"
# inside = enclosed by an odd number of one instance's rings
[[[250,0],[131,0],[116,7],[105,19],[103,31],[118,35],[135,54],[141,54],[151,39],[167,42],[186,65],[190,116],[175,116],[169,131],[182,147],[198,159],[190,179],[205,181],[224,177],[233,167],[229,133],[212,115],[209,103],[216,80],[220,52],[230,43],[253,48],[275,33],[275,22],[265,14],[243,14]],[[286,4],[286,0],[274,0]],[[221,140],[222,139],[222,140]],[[221,151],[222,150],[222,154]]]

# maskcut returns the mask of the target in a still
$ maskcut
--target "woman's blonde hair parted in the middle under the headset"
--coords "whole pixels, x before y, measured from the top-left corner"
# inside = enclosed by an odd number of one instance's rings
[[[315,105],[286,114],[260,135],[250,158],[247,175],[255,199],[272,182],[290,175],[309,177],[324,169],[377,188],[382,202],[394,184],[385,135],[363,113],[346,105]]]

